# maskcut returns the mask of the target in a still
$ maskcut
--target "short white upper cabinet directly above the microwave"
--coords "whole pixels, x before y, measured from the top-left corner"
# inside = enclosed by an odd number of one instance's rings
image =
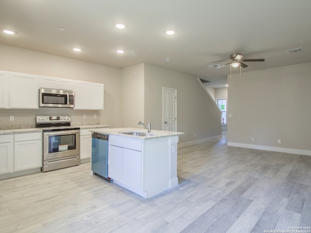
[[[72,91],[74,90],[74,80],[42,76],[40,87]]]

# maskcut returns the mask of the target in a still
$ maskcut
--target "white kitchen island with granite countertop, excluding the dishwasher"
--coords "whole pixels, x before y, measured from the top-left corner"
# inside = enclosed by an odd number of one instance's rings
[[[94,129],[109,135],[108,175],[144,198],[178,185],[177,143],[184,133],[145,129]]]

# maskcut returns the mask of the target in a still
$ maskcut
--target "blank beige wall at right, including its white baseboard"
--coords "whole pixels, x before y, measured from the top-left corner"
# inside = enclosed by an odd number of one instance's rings
[[[305,63],[228,77],[228,145],[311,155],[310,74]]]

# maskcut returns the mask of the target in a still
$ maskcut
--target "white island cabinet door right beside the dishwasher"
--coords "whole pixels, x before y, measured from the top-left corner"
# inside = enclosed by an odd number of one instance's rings
[[[123,148],[109,145],[108,151],[108,176],[122,183]]]

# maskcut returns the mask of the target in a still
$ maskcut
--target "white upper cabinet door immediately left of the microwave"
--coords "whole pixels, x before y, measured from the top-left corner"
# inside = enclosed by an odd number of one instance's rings
[[[39,78],[22,73],[10,73],[10,108],[38,108]]]

